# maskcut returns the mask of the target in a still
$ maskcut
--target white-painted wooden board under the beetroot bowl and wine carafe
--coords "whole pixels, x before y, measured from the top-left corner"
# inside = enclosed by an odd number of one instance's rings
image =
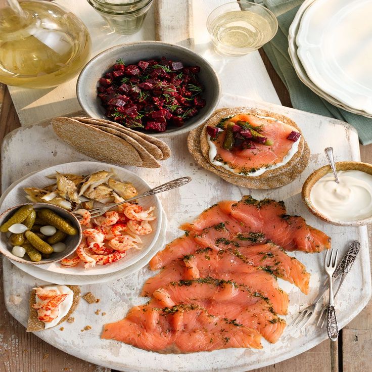
[[[280,104],[257,51],[239,58],[222,57],[213,51],[206,20],[214,8],[225,3],[224,0],[203,0],[203,2],[177,0],[176,9],[174,0],[156,1],[159,3],[159,12],[161,12],[159,14],[162,17],[161,20],[157,19],[157,34],[155,34],[154,5],[149,10],[143,28],[130,36],[113,33],[104,19],[90,7],[86,0],[57,0],[56,3],[75,13],[86,25],[92,39],[91,57],[114,45],[129,41],[155,40],[156,37],[161,38],[162,41],[192,48],[194,39],[193,30],[190,27],[194,26],[195,51],[202,54],[216,69],[221,79],[223,92],[239,93],[254,100]],[[192,3],[194,4],[194,18],[192,17],[193,9],[189,8]],[[193,19],[194,22],[189,25]],[[81,112],[76,98],[76,80],[77,77],[50,89],[9,86],[21,125],[32,125],[48,121],[56,116],[73,116]]]

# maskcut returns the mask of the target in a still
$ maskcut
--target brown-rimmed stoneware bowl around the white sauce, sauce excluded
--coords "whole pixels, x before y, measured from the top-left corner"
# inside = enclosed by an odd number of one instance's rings
[[[372,165],[368,163],[361,163],[357,161],[340,161],[336,163],[337,170],[360,170],[362,172],[368,173],[372,175]],[[324,216],[320,213],[314,205],[311,203],[310,193],[313,185],[325,174],[332,173],[331,167],[329,165],[324,165],[323,167],[315,170],[312,172],[306,179],[305,183],[302,186],[302,199],[308,208],[308,210],[316,217],[320,218],[321,220],[331,223],[332,225],[337,226],[363,226],[367,225],[368,223],[372,223],[372,215],[363,219],[358,219],[354,221],[341,221],[341,220],[334,220],[327,216]]]

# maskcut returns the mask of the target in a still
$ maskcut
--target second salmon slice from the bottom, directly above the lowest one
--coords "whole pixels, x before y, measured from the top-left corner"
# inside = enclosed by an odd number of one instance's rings
[[[267,341],[276,342],[286,323],[273,311],[270,301],[245,286],[211,277],[171,282],[157,289],[153,297],[166,307],[198,304],[212,315],[235,319],[256,329]]]

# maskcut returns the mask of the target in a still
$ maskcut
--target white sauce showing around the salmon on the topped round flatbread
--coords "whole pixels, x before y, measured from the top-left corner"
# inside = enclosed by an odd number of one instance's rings
[[[271,118],[269,116],[258,116],[258,117],[261,118],[261,119],[271,119],[271,120],[277,121],[278,123],[283,123],[283,121],[276,120],[275,118]],[[285,124],[285,123],[283,123],[283,124]],[[296,129],[296,128],[293,128],[293,130],[295,132],[298,131],[298,129]],[[300,138],[296,142],[293,143],[290,151],[283,158],[283,161],[281,163],[272,164],[272,165],[270,165],[267,168],[266,167],[264,167],[264,168],[256,168],[256,171],[255,172],[251,172],[248,175],[250,177],[257,177],[257,176],[260,176],[261,174],[265,173],[267,170],[272,170],[272,169],[275,169],[275,168],[279,168],[279,167],[282,167],[283,165],[287,164],[292,159],[293,155],[295,155],[297,153],[297,151],[298,151],[298,145],[299,145],[299,142],[300,142]],[[217,155],[217,147],[213,143],[213,141],[211,141],[211,136],[209,134],[207,135],[207,139],[208,139],[208,144],[209,144],[209,161],[212,164],[217,165],[217,166],[220,166],[220,167],[223,167],[223,168],[225,168],[226,170],[229,170],[232,173],[242,175],[242,173],[239,173],[239,170],[238,169],[230,168],[228,166],[228,164],[224,164],[224,163],[222,163],[220,161],[214,160],[214,158]]]

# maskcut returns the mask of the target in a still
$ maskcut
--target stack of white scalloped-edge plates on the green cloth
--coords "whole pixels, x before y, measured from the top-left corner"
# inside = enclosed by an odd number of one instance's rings
[[[289,29],[300,80],[331,104],[372,118],[372,0],[305,0]]]

